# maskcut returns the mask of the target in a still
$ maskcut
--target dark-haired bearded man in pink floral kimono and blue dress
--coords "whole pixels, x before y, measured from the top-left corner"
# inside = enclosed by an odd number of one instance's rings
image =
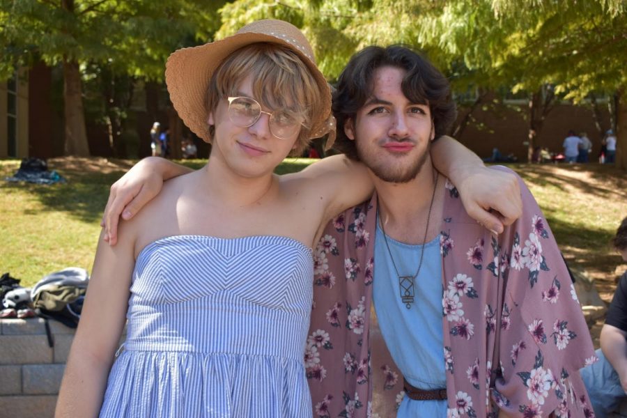
[[[314,417],[591,416],[578,369],[594,349],[529,189],[518,180],[522,217],[495,235],[433,167],[454,118],[447,79],[410,49],[368,47],[333,111],[336,146],[369,167],[376,196],[315,251]]]

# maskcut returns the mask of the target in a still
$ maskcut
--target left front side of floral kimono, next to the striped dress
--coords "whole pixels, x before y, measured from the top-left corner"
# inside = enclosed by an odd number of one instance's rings
[[[314,418],[370,417],[376,216],[369,208],[364,203],[332,219],[314,249],[314,303],[304,358]]]

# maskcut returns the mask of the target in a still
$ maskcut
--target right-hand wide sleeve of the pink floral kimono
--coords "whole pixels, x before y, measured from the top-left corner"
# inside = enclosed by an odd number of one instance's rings
[[[587,417],[579,369],[596,361],[594,347],[555,237],[522,180],[520,189],[522,216],[493,239],[509,263],[492,398],[513,416]]]

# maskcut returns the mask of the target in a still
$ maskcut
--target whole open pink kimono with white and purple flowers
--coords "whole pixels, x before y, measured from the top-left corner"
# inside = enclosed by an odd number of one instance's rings
[[[449,417],[591,417],[578,370],[596,361],[562,256],[520,180],[524,211],[497,237],[447,182],[440,234]],[[339,215],[314,251],[305,366],[314,417],[396,415],[403,377],[372,307],[376,199]],[[420,324],[416,324],[417,327]]]

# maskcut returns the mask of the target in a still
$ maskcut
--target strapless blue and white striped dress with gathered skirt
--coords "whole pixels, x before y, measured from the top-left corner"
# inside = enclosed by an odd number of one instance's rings
[[[100,417],[311,417],[311,249],[176,235],[137,258]]]

